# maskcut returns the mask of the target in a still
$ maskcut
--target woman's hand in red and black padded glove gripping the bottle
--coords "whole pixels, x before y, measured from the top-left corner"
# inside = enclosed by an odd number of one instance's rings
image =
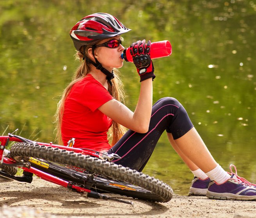
[[[142,41],[139,40],[131,44],[130,48],[133,63],[140,76],[140,82],[149,78],[155,79],[154,66],[150,58],[150,40],[148,40],[147,44],[145,39]]]

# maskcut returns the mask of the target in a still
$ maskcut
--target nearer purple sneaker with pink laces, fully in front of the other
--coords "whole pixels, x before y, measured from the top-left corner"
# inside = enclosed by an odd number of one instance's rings
[[[256,184],[248,182],[246,179],[237,176],[237,171],[234,173],[230,165],[231,177],[222,184],[217,184],[212,181],[206,193],[206,197],[216,200],[256,200]]]

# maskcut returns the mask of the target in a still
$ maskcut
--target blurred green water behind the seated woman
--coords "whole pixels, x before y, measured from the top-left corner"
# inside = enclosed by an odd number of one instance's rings
[[[177,98],[217,162],[256,183],[256,2],[252,0],[4,0],[0,2],[0,133],[19,128],[54,140],[59,95],[78,66],[69,30],[87,14],[108,12],[138,39],[169,40],[172,55],[154,60],[154,101]],[[120,69],[126,105],[135,108],[139,78]],[[186,194],[193,175],[164,134],[145,173]]]

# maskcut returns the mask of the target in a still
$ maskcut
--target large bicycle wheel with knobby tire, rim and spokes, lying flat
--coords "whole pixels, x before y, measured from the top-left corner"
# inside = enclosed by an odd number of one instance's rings
[[[129,169],[128,167],[123,167],[89,155],[82,155],[73,151],[34,143],[16,143],[12,146],[10,155],[16,159],[20,157],[42,158],[50,162],[72,166],[74,169],[78,167],[81,172],[89,171],[104,175],[105,177],[97,176],[97,179],[94,180],[93,185],[95,189],[156,202],[167,202],[172,198],[172,188],[162,181],[145,175],[142,172]],[[59,171],[59,175],[55,176],[60,178],[65,177],[66,173],[64,171],[66,170]],[[53,174],[53,172],[48,173]],[[85,179],[84,175],[85,174],[81,176],[81,174],[76,171],[69,174],[66,179],[70,181],[74,181],[75,179],[75,182],[82,184]],[[111,180],[109,178],[117,180]],[[109,183],[109,181],[114,182]],[[123,181],[125,181],[125,183]],[[115,192],[113,190],[115,190]]]

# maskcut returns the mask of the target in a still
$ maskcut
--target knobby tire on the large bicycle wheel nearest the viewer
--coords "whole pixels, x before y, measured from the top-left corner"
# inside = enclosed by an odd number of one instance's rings
[[[12,145],[10,155],[14,158],[34,157],[67,164],[118,179],[119,181],[125,181],[126,183],[139,186],[149,191],[149,194],[144,194],[142,197],[138,195],[130,195],[130,197],[156,202],[167,202],[172,198],[172,188],[162,181],[143,174],[142,172],[129,169],[128,167],[123,167],[89,155],[82,155],[73,151],[34,143],[16,143]],[[123,194],[125,195],[125,193]]]

